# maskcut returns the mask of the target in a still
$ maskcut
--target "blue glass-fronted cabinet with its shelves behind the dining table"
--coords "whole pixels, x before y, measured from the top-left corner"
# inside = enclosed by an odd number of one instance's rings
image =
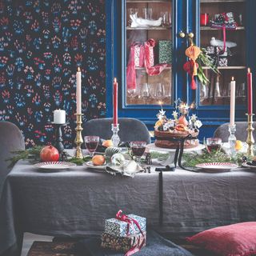
[[[196,103],[194,113],[204,126],[200,138],[210,137],[217,126],[229,122],[229,82],[234,76],[235,120],[246,120],[246,67],[255,71],[255,7],[254,0],[106,0],[107,117],[112,117],[112,84],[116,77],[118,116],[139,118],[154,130],[160,105],[170,116],[180,98]],[[200,14],[209,14],[209,20],[214,20],[222,13],[234,14],[237,30],[226,30],[226,41],[237,46],[230,50],[228,62],[219,66],[219,75],[204,67],[210,82],[206,86],[197,82],[197,90],[191,90],[190,77],[182,68],[187,61],[188,35],[193,33],[196,45],[205,49],[211,46],[212,38],[221,43],[222,29],[213,28],[209,21],[200,25]]]

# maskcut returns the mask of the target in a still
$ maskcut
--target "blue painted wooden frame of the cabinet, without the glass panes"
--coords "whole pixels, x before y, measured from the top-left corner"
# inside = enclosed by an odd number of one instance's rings
[[[217,126],[229,122],[230,106],[200,106],[199,90],[192,91],[189,86],[188,75],[183,71],[182,66],[186,62],[185,50],[188,45],[186,38],[180,38],[178,33],[194,32],[194,42],[200,45],[200,1],[199,0],[173,0],[173,85],[174,100],[181,98],[186,102],[196,102],[195,114],[203,122],[203,129],[200,138],[213,135]],[[256,10],[255,0],[246,0],[246,62],[252,71],[256,72],[255,50],[256,30],[254,29]],[[114,77],[118,78],[118,116],[138,118],[146,123],[150,130],[153,130],[156,121],[155,115],[159,106],[126,106],[126,11],[124,0],[106,0],[106,117],[112,117],[112,84]],[[254,75],[254,84],[256,78]],[[256,103],[256,95],[254,98]],[[172,112],[174,106],[164,106],[168,113]],[[255,109],[255,104],[254,104]],[[246,120],[246,107],[237,106],[236,121]]]

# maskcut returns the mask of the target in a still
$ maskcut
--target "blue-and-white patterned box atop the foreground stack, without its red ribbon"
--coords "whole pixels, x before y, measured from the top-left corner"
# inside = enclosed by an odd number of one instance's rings
[[[127,216],[130,218],[133,218],[138,222],[142,232],[146,231],[146,218],[135,215],[135,214],[128,214]],[[138,230],[138,226],[136,226],[135,224],[134,225],[130,224],[128,233],[127,233],[127,230],[128,230],[127,222],[122,222],[117,218],[106,219],[105,232],[108,234],[113,234],[119,237],[126,237],[127,235],[140,233],[140,230]]]

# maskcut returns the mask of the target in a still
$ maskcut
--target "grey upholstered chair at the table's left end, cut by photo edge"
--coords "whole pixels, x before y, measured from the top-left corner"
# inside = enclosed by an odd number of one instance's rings
[[[24,150],[25,142],[22,132],[12,122],[0,122],[0,197],[2,186],[7,174],[10,172],[10,162],[6,159],[11,158],[12,151]]]

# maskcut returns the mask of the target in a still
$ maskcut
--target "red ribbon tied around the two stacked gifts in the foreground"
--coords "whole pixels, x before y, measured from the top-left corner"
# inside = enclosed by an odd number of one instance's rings
[[[122,214],[122,210],[118,210],[118,213],[115,215],[115,218],[117,218],[121,222],[128,223],[126,235],[129,234],[130,224],[135,224],[138,227],[138,230],[141,232],[142,237],[143,237],[142,242],[140,242],[141,239],[139,239],[137,244],[135,244],[133,247],[130,248],[130,250],[128,250],[126,252],[125,256],[130,256],[131,254],[134,254],[134,253],[138,252],[139,250],[141,250],[142,246],[144,246],[144,243],[145,243],[145,237],[144,237],[144,234],[143,234],[142,229],[139,226],[138,222],[134,218],[130,218],[126,214]]]

